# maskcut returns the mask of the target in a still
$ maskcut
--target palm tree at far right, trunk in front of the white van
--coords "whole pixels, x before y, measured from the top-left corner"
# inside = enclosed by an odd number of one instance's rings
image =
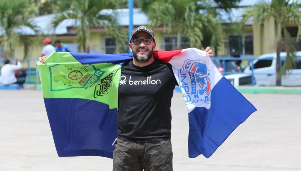
[[[297,41],[301,33],[301,12],[299,11],[300,4],[298,1],[291,0],[272,0],[271,3],[261,2],[247,9],[243,14],[242,23],[253,17],[253,25],[260,27],[270,18],[275,20],[275,44],[277,46],[276,59],[276,85],[281,85],[281,76],[287,71],[296,66],[294,58],[296,57],[296,47],[293,44],[293,39],[287,31],[287,26],[292,24],[298,25]],[[282,41],[282,32],[284,41]],[[284,45],[287,45],[287,56],[284,65],[280,69],[280,52],[284,50]]]

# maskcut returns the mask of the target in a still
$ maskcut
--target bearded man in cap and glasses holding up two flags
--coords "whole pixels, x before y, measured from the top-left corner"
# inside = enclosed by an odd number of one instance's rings
[[[113,152],[114,171],[172,170],[171,98],[177,81],[169,64],[153,57],[151,29],[132,31],[133,60],[121,70],[118,88],[118,135]],[[205,50],[213,59],[212,50]],[[45,62],[45,56],[39,58]],[[146,84],[134,84],[144,82]]]

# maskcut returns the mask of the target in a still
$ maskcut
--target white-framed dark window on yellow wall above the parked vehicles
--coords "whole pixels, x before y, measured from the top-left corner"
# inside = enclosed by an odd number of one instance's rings
[[[228,35],[228,55],[253,56],[253,34]]]

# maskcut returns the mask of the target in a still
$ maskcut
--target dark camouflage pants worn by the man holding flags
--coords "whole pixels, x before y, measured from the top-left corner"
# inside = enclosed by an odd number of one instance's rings
[[[113,171],[172,171],[170,140],[128,142],[117,139],[113,152]]]

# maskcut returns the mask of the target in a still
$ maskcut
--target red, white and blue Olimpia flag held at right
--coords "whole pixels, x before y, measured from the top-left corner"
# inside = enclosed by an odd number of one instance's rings
[[[222,76],[202,50],[156,51],[170,63],[188,108],[188,155],[209,158],[256,108]]]

